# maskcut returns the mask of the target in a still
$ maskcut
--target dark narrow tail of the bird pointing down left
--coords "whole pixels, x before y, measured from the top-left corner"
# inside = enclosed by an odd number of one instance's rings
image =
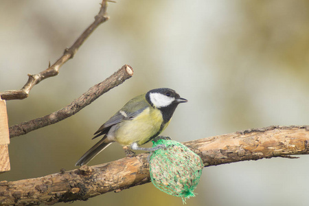
[[[97,144],[95,144],[92,148],[90,148],[80,159],[78,159],[76,166],[84,165],[89,163],[91,159],[93,159],[96,155],[98,155],[102,150],[104,150],[107,146],[109,146],[111,142],[106,142],[106,136],[104,136]]]

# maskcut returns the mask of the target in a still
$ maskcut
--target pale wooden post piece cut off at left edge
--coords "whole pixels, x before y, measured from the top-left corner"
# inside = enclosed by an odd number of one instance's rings
[[[0,172],[10,171],[10,158],[8,145],[10,135],[8,130],[8,114],[6,112],[6,102],[0,97]]]

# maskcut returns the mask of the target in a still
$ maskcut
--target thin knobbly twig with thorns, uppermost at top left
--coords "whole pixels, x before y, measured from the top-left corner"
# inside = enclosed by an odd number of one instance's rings
[[[59,73],[60,67],[65,64],[70,58],[76,54],[79,47],[86,41],[86,39],[90,36],[90,34],[101,24],[109,19],[106,14],[107,3],[106,0],[102,1],[102,6],[100,8],[100,12],[97,16],[95,16],[95,21],[78,37],[75,43],[68,49],[65,49],[64,54],[49,68],[41,71],[37,74],[28,74],[29,78],[27,83],[20,90],[8,90],[0,92],[0,96],[2,100],[23,100],[29,96],[30,90],[34,87],[34,85],[38,84],[42,80],[46,78],[50,78],[52,76],[57,76]]]

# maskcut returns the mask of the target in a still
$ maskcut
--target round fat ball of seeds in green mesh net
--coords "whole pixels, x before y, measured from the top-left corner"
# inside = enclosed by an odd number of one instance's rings
[[[203,170],[201,157],[178,141],[159,139],[153,146],[165,145],[150,155],[150,178],[159,190],[186,198],[195,196]]]

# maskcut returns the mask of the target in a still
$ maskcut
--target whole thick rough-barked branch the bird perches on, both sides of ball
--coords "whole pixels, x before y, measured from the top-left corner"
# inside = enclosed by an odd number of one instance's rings
[[[286,155],[308,155],[309,126],[271,126],[187,141],[205,166]],[[36,179],[0,182],[1,205],[52,205],[120,192],[150,181],[148,154],[62,171]],[[203,181],[203,180],[202,180]]]

